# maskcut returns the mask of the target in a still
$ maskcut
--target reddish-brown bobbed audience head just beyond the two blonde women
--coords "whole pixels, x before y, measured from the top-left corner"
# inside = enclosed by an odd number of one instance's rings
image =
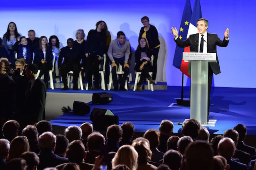
[[[143,137],[145,139],[148,139],[148,141],[150,142],[150,148],[156,148],[157,146],[159,146],[159,132],[156,129],[148,129]]]

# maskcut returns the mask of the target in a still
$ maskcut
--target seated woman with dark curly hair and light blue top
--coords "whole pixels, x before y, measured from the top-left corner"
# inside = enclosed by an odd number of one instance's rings
[[[60,50],[63,48],[62,43],[59,41],[59,38],[56,35],[51,35],[49,38],[49,46],[51,51],[55,53],[55,61],[54,61],[54,77],[56,77],[56,82],[58,83],[61,78],[61,74],[59,74],[58,62],[56,62],[60,55]],[[58,79],[57,79],[58,78]]]

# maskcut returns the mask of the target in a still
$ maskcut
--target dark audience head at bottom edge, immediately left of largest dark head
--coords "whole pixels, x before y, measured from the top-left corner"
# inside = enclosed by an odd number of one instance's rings
[[[179,170],[183,164],[183,156],[176,150],[169,150],[163,156],[164,162],[171,170]]]

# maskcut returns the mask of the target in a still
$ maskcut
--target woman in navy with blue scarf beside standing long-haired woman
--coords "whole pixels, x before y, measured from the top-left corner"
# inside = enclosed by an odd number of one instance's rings
[[[17,59],[24,58],[26,64],[31,64],[33,60],[33,52],[28,44],[28,40],[25,36],[18,37],[17,42],[13,45],[13,50],[17,52]],[[19,44],[20,43],[20,44]]]

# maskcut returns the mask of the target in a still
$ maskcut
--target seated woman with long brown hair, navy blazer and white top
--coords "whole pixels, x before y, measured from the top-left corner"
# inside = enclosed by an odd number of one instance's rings
[[[40,37],[39,47],[35,49],[34,64],[37,65],[40,70],[39,77],[44,75],[44,83],[48,87],[49,70],[53,68],[53,52],[47,44],[47,38],[45,36]]]

